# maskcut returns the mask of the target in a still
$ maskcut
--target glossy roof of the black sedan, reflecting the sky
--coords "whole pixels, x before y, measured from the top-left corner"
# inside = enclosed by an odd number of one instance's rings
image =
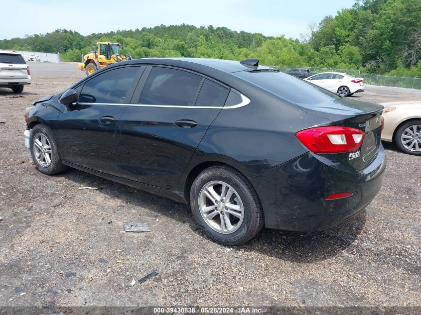
[[[142,58],[128,61],[129,63],[150,63],[168,66],[188,66],[201,65],[214,69],[218,69],[227,73],[234,73],[238,71],[250,70],[250,67],[242,65],[239,61],[222,60],[222,59],[207,59],[207,58]],[[272,69],[265,66],[259,66],[257,69]]]

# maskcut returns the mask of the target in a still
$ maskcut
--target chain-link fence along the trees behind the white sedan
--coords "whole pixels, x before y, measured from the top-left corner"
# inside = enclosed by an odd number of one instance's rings
[[[378,74],[361,73],[355,69],[320,68],[320,67],[296,67],[296,66],[270,66],[279,71],[286,72],[291,69],[308,69],[310,72],[340,72],[356,78],[363,78],[365,84],[421,90],[421,78],[408,78],[397,76],[383,76]]]

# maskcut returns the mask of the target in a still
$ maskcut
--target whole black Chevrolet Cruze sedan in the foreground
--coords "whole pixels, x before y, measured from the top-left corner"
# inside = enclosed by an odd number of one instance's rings
[[[386,166],[383,107],[258,62],[116,63],[29,107],[26,146],[41,173],[70,166],[185,203],[227,245],[362,210]]]

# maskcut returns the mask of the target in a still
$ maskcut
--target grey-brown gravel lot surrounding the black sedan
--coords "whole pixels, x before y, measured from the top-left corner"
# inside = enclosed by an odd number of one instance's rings
[[[21,97],[0,89],[0,306],[421,306],[420,157],[385,144],[380,194],[335,228],[264,229],[227,248],[181,204],[74,169],[37,172],[23,145],[24,108],[84,73],[74,63],[29,67]],[[421,91],[367,86],[353,98]],[[124,233],[129,220],[153,230]]]

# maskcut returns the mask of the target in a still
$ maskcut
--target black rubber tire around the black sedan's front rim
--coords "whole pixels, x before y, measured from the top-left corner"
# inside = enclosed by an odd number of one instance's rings
[[[49,144],[51,148],[51,152],[49,154],[50,157],[50,164],[49,165],[42,165],[41,162],[38,161],[36,158],[36,152],[35,150],[39,150],[35,148],[34,139],[38,138],[38,136],[44,135],[47,138],[47,144]],[[35,166],[37,170],[43,174],[47,175],[54,175],[63,172],[66,169],[66,166],[64,166],[61,163],[60,156],[58,155],[57,151],[57,145],[54,142],[54,139],[51,136],[51,130],[47,126],[43,124],[37,124],[35,127],[31,130],[31,136],[29,141],[29,150],[31,151],[32,160],[35,163]],[[44,162],[46,160],[44,159]]]

